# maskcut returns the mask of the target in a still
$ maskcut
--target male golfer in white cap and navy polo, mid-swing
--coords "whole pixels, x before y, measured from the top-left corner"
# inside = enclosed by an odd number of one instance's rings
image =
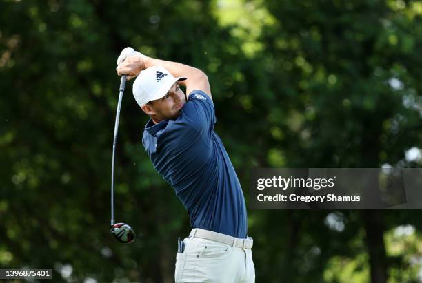
[[[208,77],[195,67],[139,52],[132,56],[122,52],[117,63],[117,74],[137,76],[133,95],[150,116],[143,146],[190,216],[192,231],[180,243],[175,281],[254,282],[245,198],[214,132]]]

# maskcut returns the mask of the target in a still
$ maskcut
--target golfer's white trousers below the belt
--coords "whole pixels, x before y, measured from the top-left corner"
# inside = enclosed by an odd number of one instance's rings
[[[254,283],[252,250],[188,237],[185,251],[176,255],[176,283]]]

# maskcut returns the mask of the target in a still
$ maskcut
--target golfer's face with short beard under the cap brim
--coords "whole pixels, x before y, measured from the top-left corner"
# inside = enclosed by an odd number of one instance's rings
[[[183,90],[174,83],[167,94],[163,98],[151,101],[151,103],[142,107],[143,112],[150,115],[155,123],[162,120],[172,120],[177,118],[181,113],[181,108],[186,103]]]

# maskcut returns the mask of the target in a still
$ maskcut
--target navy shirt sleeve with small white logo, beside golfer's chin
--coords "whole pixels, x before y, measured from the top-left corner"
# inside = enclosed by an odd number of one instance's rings
[[[192,91],[182,111],[202,138],[210,140],[217,121],[210,96],[201,90]]]

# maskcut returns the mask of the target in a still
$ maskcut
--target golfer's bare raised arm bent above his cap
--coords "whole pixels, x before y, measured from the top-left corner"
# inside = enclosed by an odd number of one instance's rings
[[[154,59],[147,56],[128,56],[123,63],[117,66],[117,74],[127,74],[128,78],[133,78],[139,75],[142,70],[148,67],[161,66],[165,67],[172,76],[185,76],[185,81],[179,81],[178,83],[186,87],[186,94],[189,95],[193,90],[202,90],[205,94],[211,96],[211,87],[208,82],[208,77],[204,72],[197,69],[196,67],[190,67],[177,62],[164,61],[160,59]]]

